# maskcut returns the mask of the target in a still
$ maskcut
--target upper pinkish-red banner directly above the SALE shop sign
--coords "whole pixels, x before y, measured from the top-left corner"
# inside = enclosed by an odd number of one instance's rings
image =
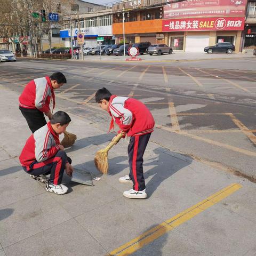
[[[243,16],[247,0],[187,0],[164,6],[164,19]]]

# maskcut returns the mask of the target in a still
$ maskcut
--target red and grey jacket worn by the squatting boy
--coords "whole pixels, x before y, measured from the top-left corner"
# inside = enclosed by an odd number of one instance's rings
[[[54,132],[51,123],[48,122],[28,138],[19,157],[21,165],[29,171],[33,162],[44,162],[54,157],[60,150],[59,144],[59,135]]]

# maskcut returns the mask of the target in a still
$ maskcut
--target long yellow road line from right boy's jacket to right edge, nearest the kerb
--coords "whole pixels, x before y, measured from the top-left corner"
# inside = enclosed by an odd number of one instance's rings
[[[200,141],[209,143],[210,145],[226,148],[226,149],[229,149],[231,151],[235,151],[237,153],[241,153],[241,154],[244,154],[244,155],[247,155],[247,156],[256,156],[256,152],[249,151],[249,150],[242,149],[242,148],[237,148],[237,147],[234,147],[234,146],[230,146],[230,145],[227,145],[225,143],[218,142],[218,141],[215,141],[215,140],[199,137],[198,135],[190,134],[189,132],[186,132],[186,131],[174,131],[170,127],[166,127],[166,126],[159,125],[159,124],[156,124],[155,126],[156,126],[156,128],[159,128],[159,129],[162,129],[162,130],[165,130],[165,131],[174,132],[174,133],[177,133],[177,134],[180,134],[180,135],[184,135],[186,137],[189,137],[189,138],[192,138],[192,139],[195,139],[195,140],[200,140]]]

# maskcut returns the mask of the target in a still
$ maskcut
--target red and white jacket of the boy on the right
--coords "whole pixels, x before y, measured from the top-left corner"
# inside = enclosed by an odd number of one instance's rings
[[[154,118],[139,100],[112,95],[108,112],[112,117],[109,130],[113,129],[115,121],[121,131],[126,132],[129,137],[154,131]]]

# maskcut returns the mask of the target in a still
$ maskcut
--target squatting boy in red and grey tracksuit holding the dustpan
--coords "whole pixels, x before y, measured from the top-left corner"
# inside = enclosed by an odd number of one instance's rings
[[[71,159],[60,145],[59,134],[65,132],[71,121],[67,113],[57,111],[45,126],[32,134],[19,157],[20,163],[30,177],[46,184],[46,191],[66,194],[68,188],[61,184],[64,170],[71,176]],[[45,175],[50,174],[48,180]]]

